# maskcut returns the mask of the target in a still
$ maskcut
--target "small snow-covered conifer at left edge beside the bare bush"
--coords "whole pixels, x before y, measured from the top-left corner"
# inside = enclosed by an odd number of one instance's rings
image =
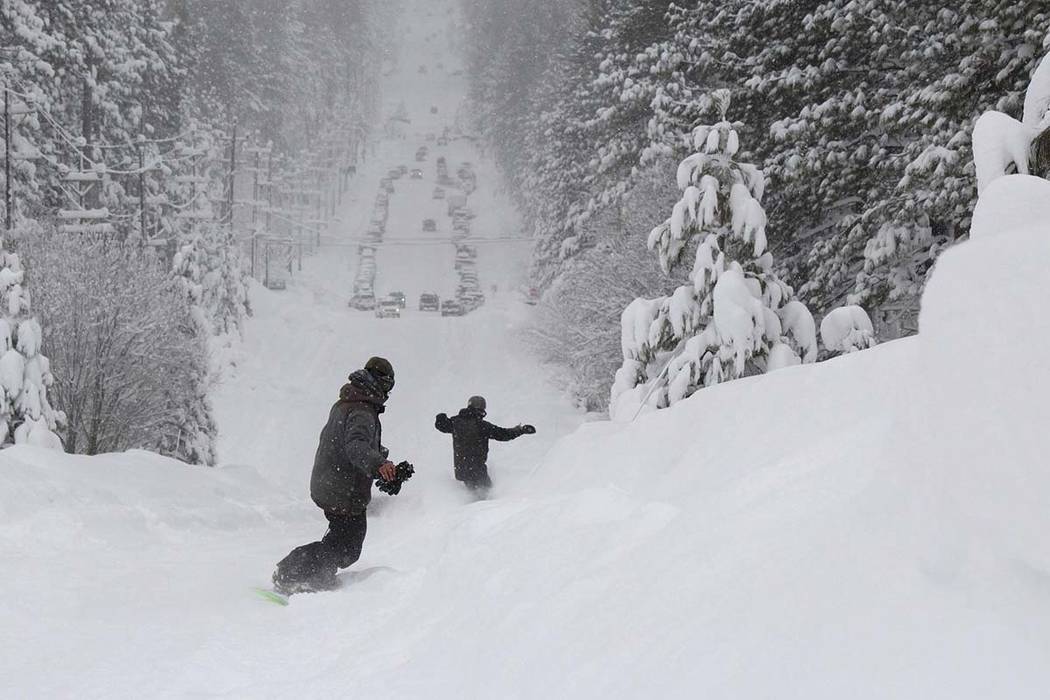
[[[43,331],[29,313],[25,271],[0,241],[0,445],[62,449],[56,434],[62,416],[51,408],[50,363],[41,352]]]

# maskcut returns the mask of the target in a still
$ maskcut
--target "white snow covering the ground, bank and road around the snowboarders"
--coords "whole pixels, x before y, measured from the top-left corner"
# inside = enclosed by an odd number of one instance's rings
[[[462,96],[453,35],[432,28],[445,8],[406,2],[387,86],[421,122]],[[254,290],[215,397],[225,466],[0,453],[0,697],[1045,697],[1050,232],[995,230],[1027,206],[1010,178],[982,195],[987,235],[939,262],[919,338],[581,425],[519,347],[520,249],[482,250],[502,291],[467,317],[413,312],[455,285],[440,246],[380,254],[377,293],[404,291],[405,317],[346,307],[355,249],[336,243],[359,235],[379,175],[412,167],[417,128],[376,145],[287,292]],[[512,232],[484,161],[449,149],[479,169],[475,235]],[[434,205],[412,187],[392,197],[392,240],[419,238]],[[322,533],[317,434],[373,354],[397,369],[385,441],[417,475],[376,497],[342,590],[261,602],[250,587]],[[433,429],[475,393],[494,421],[540,430],[494,446],[485,502]]]

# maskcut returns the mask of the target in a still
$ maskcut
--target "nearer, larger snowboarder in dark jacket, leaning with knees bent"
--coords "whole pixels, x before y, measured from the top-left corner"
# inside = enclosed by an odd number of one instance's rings
[[[394,367],[374,357],[339,390],[321,430],[310,479],[310,495],[324,511],[329,530],[319,542],[296,547],[277,564],[273,574],[277,592],[333,588],[336,572],[360,557],[372,483],[377,478],[395,479],[379,422],[393,388]]]

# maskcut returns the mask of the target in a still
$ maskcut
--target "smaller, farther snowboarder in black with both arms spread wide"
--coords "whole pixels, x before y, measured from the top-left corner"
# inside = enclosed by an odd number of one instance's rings
[[[453,455],[456,479],[463,482],[467,488],[480,491],[484,496],[492,487],[488,476],[488,441],[508,442],[525,434],[532,434],[536,428],[531,425],[519,425],[513,428],[501,428],[485,420],[485,399],[470,397],[466,408],[457,416],[448,418],[438,413],[434,422],[441,432],[453,436]]]

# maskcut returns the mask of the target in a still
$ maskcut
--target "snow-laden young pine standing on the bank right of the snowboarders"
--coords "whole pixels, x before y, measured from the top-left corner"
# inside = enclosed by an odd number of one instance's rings
[[[813,317],[773,271],[766,250],[765,178],[736,158],[740,125],[726,119],[729,90],[712,98],[720,121],[694,130],[697,152],[678,166],[681,198],[649,235],[665,271],[695,251],[691,282],[624,311],[613,416],[647,393],[648,403],[663,407],[704,386],[817,357]]]

